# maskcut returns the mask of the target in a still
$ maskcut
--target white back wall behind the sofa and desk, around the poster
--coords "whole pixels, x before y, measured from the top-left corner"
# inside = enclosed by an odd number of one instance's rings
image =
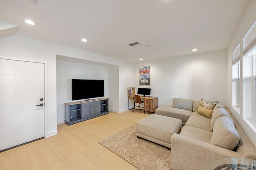
[[[151,88],[158,106],[172,105],[173,98],[218,100],[227,104],[227,51],[136,63],[135,87]],[[139,86],[138,67],[150,66],[150,86]]]

